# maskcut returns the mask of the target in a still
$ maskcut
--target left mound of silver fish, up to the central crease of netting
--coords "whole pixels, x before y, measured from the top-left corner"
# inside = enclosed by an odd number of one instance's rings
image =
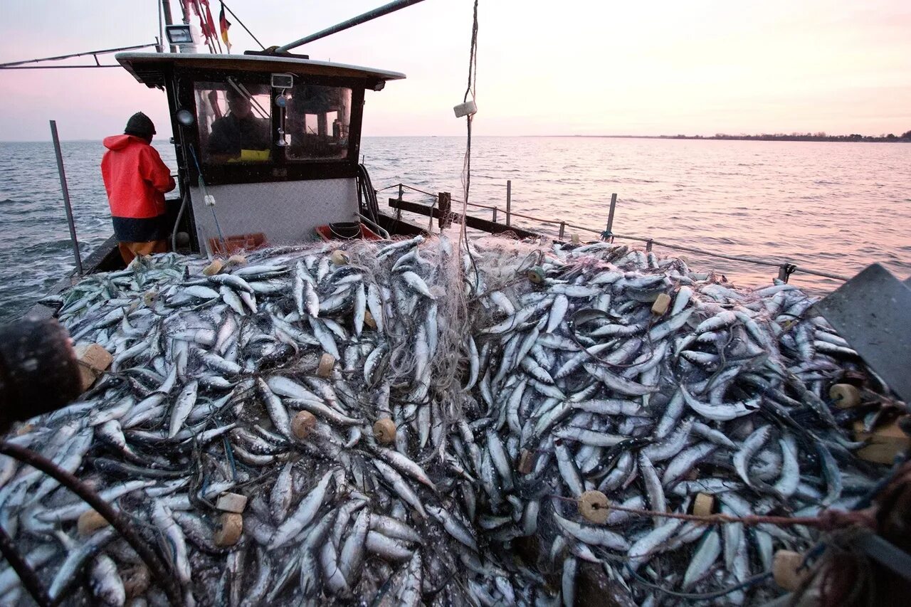
[[[481,550],[453,498],[473,489],[445,457],[458,399],[439,396],[460,386],[436,350],[461,334],[435,293],[459,278],[445,243],[425,257],[422,240],[273,250],[211,276],[162,255],[89,277],[58,315],[77,343],[114,355],[109,373],[15,441],[135,520],[188,604],[535,602],[541,583],[517,583]],[[303,438],[298,411],[317,421]],[[374,438],[383,417],[393,445]],[[162,604],[116,533],[77,534],[86,504],[4,464],[2,524],[53,598],[78,585],[96,604]],[[249,499],[230,546],[215,540],[225,492]],[[4,575],[0,602],[15,603],[24,592]]]

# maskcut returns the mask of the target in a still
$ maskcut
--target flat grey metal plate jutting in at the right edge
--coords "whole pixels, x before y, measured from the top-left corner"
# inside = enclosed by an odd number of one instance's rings
[[[874,263],[814,304],[896,394],[911,401],[911,288]]]

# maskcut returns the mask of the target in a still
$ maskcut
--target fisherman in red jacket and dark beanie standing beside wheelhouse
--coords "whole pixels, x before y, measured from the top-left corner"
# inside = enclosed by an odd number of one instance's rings
[[[124,262],[168,251],[165,192],[175,187],[168,166],[151,146],[155,125],[142,112],[127,121],[123,135],[104,139],[101,159],[107,202]]]

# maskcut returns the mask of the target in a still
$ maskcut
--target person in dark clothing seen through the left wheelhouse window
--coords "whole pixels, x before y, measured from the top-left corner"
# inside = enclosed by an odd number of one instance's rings
[[[228,115],[212,122],[206,143],[209,158],[221,162],[268,159],[269,121],[255,116],[250,98],[234,87],[228,87],[226,97]],[[261,158],[262,152],[266,158]]]

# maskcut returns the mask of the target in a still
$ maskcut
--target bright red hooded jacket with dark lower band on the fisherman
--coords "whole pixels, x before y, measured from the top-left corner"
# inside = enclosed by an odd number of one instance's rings
[[[107,137],[104,145],[107,151],[101,159],[101,176],[118,240],[158,240],[162,237],[164,192],[175,186],[168,166],[157,149],[133,135]]]

